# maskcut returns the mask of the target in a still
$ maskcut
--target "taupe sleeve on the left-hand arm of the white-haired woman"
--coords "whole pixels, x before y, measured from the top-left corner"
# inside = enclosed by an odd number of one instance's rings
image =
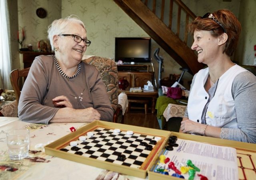
[[[25,122],[48,124],[59,108],[42,105],[48,82],[42,59],[43,57],[36,57],[30,67],[20,94],[18,116]]]

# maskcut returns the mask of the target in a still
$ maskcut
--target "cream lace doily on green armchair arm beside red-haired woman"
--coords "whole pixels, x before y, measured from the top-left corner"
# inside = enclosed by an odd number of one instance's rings
[[[163,116],[168,121],[172,117],[183,117],[186,106],[178,104],[168,104],[167,108],[164,110]]]

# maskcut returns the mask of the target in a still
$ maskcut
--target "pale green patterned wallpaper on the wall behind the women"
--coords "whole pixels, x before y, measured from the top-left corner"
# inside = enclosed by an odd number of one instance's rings
[[[16,2],[17,0],[12,1]],[[256,36],[253,36],[256,12],[253,8],[256,7],[256,0],[243,0],[241,5],[240,0],[231,2],[182,0],[182,2],[197,16],[220,8],[232,10],[240,19],[243,28],[241,43],[235,59],[242,64],[253,64],[253,45],[256,44]],[[46,9],[46,18],[41,19],[36,16],[36,9],[39,7]],[[22,28],[24,28],[25,46],[32,44],[33,48],[37,49],[37,42],[47,39],[48,25],[54,19],[70,14],[76,14],[86,25],[88,39],[92,41],[86,51],[87,55],[114,58],[115,37],[148,37],[148,34],[113,0],[18,0],[18,27],[20,36]],[[158,47],[158,44],[152,40],[152,57],[154,50]],[[160,55],[164,58],[162,78],[169,77],[169,74],[173,73],[180,74],[180,66],[162,48],[160,48]],[[158,63],[156,60],[154,60],[154,66],[157,75]],[[192,76],[185,73],[184,78],[191,79]]]

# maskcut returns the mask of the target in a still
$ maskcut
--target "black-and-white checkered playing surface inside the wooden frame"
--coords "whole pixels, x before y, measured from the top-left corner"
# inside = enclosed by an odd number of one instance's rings
[[[86,138],[85,141],[77,140],[77,146],[68,145],[62,150],[114,164],[140,168],[151,152],[146,150],[145,146],[140,145],[140,142],[150,144],[150,140],[154,140],[154,136],[150,135],[137,133],[128,135],[125,131],[118,133],[105,128],[97,128],[92,133],[93,136]],[[150,145],[153,148],[155,146],[154,144]],[[124,161],[117,160],[119,154],[125,155],[126,159]]]

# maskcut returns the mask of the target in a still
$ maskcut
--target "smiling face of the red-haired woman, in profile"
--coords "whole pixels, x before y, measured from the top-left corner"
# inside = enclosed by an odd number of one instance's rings
[[[210,31],[195,30],[191,49],[198,53],[198,62],[209,64],[218,55],[218,38],[213,37]]]

